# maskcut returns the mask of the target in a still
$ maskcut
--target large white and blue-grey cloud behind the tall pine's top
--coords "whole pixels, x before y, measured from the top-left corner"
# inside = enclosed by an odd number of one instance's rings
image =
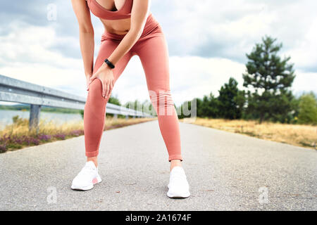
[[[283,43],[282,53],[292,56],[296,68],[317,71],[316,51],[310,48],[316,46],[317,1],[153,2],[152,11],[166,31],[172,56],[230,58],[245,63],[245,53],[268,34]],[[173,12],[163,13],[163,8],[173,8]]]

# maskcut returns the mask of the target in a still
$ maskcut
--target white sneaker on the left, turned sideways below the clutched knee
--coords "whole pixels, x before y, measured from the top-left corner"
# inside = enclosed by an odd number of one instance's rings
[[[87,191],[94,187],[94,184],[101,182],[101,177],[98,174],[98,168],[94,162],[86,162],[85,167],[73,179],[71,188],[74,190]]]

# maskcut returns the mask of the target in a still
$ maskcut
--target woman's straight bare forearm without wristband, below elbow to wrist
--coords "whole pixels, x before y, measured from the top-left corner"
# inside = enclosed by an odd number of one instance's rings
[[[92,75],[94,68],[94,32],[80,31],[80,51],[84,62],[85,75]]]

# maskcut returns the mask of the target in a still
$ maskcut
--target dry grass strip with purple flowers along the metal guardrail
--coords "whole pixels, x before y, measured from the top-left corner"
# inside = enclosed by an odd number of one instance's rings
[[[132,124],[155,120],[151,118],[135,118],[125,120],[106,117],[104,130],[125,127]],[[18,150],[27,146],[38,146],[42,143],[70,139],[84,134],[83,121],[66,122],[57,125],[54,122],[39,121],[38,131],[29,131],[29,121],[18,116],[13,117],[13,124],[0,131],[0,153]]]

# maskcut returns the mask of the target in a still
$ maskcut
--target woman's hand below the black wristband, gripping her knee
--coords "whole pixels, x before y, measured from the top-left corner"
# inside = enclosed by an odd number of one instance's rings
[[[108,67],[108,65],[106,65],[106,63],[103,63],[97,72],[95,72],[94,75],[90,77],[89,84],[96,78],[100,79],[101,81],[102,96],[104,98],[109,98],[113,89],[113,71]]]

